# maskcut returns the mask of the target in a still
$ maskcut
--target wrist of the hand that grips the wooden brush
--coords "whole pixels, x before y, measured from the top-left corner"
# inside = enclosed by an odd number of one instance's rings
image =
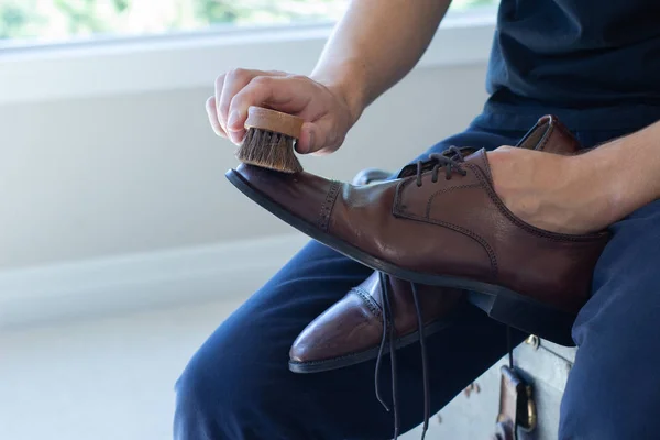
[[[365,77],[365,68],[360,62],[320,66],[310,75],[311,79],[328,88],[345,106],[351,127],[370,102]]]

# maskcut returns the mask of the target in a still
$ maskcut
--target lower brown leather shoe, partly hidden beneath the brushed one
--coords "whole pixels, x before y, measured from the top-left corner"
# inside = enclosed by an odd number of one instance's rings
[[[319,373],[375,359],[387,321],[378,272],[374,272],[346,296],[315,319],[298,336],[289,352],[294,373]],[[395,329],[395,349],[419,340],[418,321],[409,282],[385,275]],[[417,286],[425,336],[442,329],[464,299],[462,290]],[[383,354],[388,353],[389,344]]]

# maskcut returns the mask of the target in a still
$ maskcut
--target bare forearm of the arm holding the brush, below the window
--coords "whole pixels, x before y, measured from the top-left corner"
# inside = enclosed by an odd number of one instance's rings
[[[311,74],[342,95],[358,120],[417,64],[451,0],[354,0]]]

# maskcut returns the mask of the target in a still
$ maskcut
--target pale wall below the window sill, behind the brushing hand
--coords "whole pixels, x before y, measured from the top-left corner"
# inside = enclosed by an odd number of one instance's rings
[[[483,66],[415,72],[337,154],[305,165],[343,179],[404,165],[471,120],[483,82]],[[237,162],[208,128],[210,94],[212,85],[0,107],[0,267],[288,232],[226,180]]]

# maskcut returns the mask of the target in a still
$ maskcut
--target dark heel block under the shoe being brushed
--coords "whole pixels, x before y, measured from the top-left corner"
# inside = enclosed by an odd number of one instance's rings
[[[470,302],[496,321],[564,346],[575,346],[571,329],[575,316],[530,300],[471,292]]]

